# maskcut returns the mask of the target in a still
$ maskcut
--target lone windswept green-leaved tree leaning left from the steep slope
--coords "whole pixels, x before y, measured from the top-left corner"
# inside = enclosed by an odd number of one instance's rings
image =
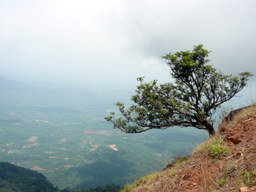
[[[149,129],[168,127],[196,127],[214,135],[212,115],[223,102],[232,99],[243,90],[250,72],[238,76],[225,76],[211,65],[206,65],[211,51],[203,45],[194,46],[193,51],[180,51],[162,56],[171,68],[174,83],[157,84],[157,80],[145,83],[144,77],[137,78],[135,103],[125,110],[124,104],[117,102],[124,118],[115,118],[115,113],[106,117],[118,128],[127,133],[139,133]]]

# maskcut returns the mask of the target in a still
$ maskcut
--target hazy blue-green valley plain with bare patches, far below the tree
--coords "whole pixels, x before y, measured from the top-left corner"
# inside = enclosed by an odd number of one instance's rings
[[[123,186],[189,154],[207,136],[190,127],[113,129],[104,117],[132,93],[39,88],[3,77],[0,84],[0,161],[43,173],[60,189]]]

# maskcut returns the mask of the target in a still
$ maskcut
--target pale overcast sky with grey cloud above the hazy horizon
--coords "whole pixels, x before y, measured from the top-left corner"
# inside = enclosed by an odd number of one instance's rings
[[[255,10],[256,1],[244,0],[0,0],[0,75],[135,88],[141,76],[172,81],[161,56],[204,44],[210,65],[252,72],[253,86]]]

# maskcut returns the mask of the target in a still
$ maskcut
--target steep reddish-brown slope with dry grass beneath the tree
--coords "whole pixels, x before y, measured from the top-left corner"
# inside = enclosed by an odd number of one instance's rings
[[[256,107],[229,117],[191,155],[123,191],[256,191]]]

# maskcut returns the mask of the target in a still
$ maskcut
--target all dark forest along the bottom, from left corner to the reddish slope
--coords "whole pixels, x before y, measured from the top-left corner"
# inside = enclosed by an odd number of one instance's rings
[[[104,187],[74,190],[62,189],[60,192],[118,192],[121,186],[106,185]],[[12,163],[0,162],[0,192],[54,192],[54,188],[42,173],[15,166]]]

